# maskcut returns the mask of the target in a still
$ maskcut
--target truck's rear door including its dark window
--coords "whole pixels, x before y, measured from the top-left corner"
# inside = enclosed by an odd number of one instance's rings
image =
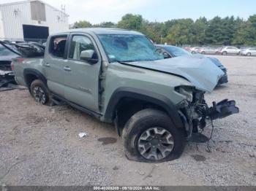
[[[42,63],[43,73],[47,79],[48,88],[53,93],[64,98],[64,66],[67,63],[68,34],[51,36],[45,50]]]

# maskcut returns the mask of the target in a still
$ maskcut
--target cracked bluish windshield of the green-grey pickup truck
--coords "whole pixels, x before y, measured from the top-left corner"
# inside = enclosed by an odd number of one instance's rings
[[[164,59],[146,36],[131,34],[100,34],[99,40],[110,62],[156,61]]]

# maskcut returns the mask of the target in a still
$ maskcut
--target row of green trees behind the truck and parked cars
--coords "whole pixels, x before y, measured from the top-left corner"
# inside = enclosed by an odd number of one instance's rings
[[[214,44],[214,45],[249,45],[256,46],[256,15],[248,20],[239,17],[214,17],[207,20],[200,17],[192,19],[173,19],[164,23],[149,22],[141,15],[127,14],[116,24],[104,22],[92,25],[86,20],[76,22],[74,28],[106,27],[125,28],[146,34],[153,42],[159,44]]]

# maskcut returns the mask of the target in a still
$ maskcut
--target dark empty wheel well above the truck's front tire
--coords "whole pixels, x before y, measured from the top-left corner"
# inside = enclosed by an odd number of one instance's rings
[[[129,118],[132,117],[133,114],[147,108],[158,109],[166,112],[165,109],[161,106],[148,101],[142,101],[136,98],[121,98],[121,100],[118,101],[118,105],[116,106],[114,114],[114,122],[116,130],[118,131],[118,135],[121,136],[121,131],[123,130],[124,125],[127,123]]]

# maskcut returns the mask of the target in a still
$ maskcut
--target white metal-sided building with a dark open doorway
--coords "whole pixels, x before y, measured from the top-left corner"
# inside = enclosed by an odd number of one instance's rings
[[[0,4],[0,40],[46,39],[68,29],[68,15],[43,1]]]

